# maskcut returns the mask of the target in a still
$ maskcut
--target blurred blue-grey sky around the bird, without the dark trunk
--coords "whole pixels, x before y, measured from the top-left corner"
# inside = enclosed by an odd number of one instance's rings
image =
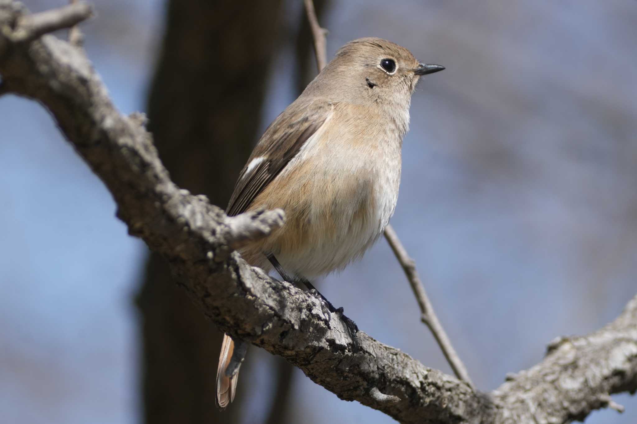
[[[120,110],[143,111],[164,3],[94,4],[89,57]],[[297,25],[299,2],[286,7],[284,24]],[[483,390],[637,293],[635,22],[619,0],[334,1],[322,22],[329,55],[380,36],[447,67],[413,97],[392,224]],[[262,127],[296,97],[291,42],[269,70]],[[0,99],[0,222],[0,421],[138,422],[132,296],[145,246],[47,111],[13,96]],[[363,331],[450,372],[384,241],[322,287]],[[271,358],[252,349],[250,359],[241,378],[260,402],[246,423],[269,407]],[[295,379],[292,422],[393,422]],[[626,413],[586,422],[636,422],[637,399],[614,399]]]

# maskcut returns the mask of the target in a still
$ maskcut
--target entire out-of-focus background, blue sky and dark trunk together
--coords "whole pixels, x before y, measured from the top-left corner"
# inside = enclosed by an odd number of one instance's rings
[[[94,0],[85,47],[145,111],[180,186],[225,207],[268,123],[315,74],[301,1]],[[65,4],[27,0],[32,11]],[[328,55],[390,39],[423,79],[392,224],[478,388],[637,292],[633,2],[317,1]],[[66,34],[60,34],[65,36]],[[0,421],[390,423],[252,348],[214,406],[220,334],[127,236],[103,184],[35,102],[0,99]],[[376,339],[450,373],[387,243],[320,282]],[[587,423],[634,423],[626,413]]]

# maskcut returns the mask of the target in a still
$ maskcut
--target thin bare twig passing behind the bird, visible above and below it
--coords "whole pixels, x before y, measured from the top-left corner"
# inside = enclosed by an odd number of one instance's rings
[[[318,71],[320,72],[326,65],[327,61],[325,39],[326,30],[318,24],[312,0],[305,0],[305,10],[307,12],[308,21],[310,21],[312,35],[314,37],[314,50],[317,58]],[[401,266],[403,266],[407,280],[412,286],[413,294],[416,296],[416,300],[420,306],[420,320],[424,322],[424,324],[426,324],[427,327],[429,327],[429,330],[433,333],[443,355],[447,358],[447,362],[451,366],[451,369],[454,370],[455,376],[460,380],[466,381],[466,383],[473,388],[473,383],[471,382],[471,378],[469,378],[469,373],[467,372],[466,367],[462,363],[462,360],[460,360],[458,354],[455,353],[454,346],[452,346],[445,329],[443,329],[440,321],[438,321],[438,317],[436,317],[434,308],[431,306],[431,301],[429,301],[429,297],[427,297],[425,287],[422,285],[420,277],[416,272],[416,266],[413,259],[407,254],[407,251],[403,247],[403,243],[400,242],[400,239],[396,235],[396,231],[394,231],[390,224],[387,224],[385,227],[385,238],[387,238],[387,242],[394,251],[398,262]]]

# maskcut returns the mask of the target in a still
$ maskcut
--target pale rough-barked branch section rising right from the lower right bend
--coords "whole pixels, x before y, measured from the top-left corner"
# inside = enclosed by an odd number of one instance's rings
[[[507,380],[493,392],[499,422],[567,423],[593,409],[622,409],[609,395],[637,390],[637,296],[612,323],[556,339],[540,364]]]

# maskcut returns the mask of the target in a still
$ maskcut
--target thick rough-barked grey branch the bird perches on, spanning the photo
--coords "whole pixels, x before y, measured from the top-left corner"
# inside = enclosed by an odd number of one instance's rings
[[[159,252],[203,313],[232,336],[299,367],[341,399],[404,423],[567,422],[637,388],[637,298],[612,324],[563,339],[538,366],[478,393],[396,348],[348,332],[320,301],[248,266],[231,246],[282,224],[280,211],[229,218],[169,178],[139,114],[124,116],[80,49],[52,36],[17,41],[22,7],[0,0],[0,74],[38,100],[108,187],[129,233]],[[24,17],[24,16],[23,16]],[[34,17],[36,18],[36,17]]]

